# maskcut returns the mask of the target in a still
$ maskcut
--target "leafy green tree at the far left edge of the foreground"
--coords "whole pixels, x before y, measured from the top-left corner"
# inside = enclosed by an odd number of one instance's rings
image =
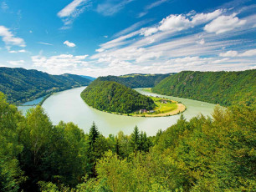
[[[17,159],[23,149],[18,144],[18,124],[22,119],[18,109],[8,104],[0,92],[0,191],[18,191],[25,179]]]

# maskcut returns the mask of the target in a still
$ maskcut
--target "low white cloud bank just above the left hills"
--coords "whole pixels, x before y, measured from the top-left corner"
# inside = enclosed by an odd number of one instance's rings
[[[41,55],[31,57],[33,65],[38,68],[44,68],[49,73],[63,73],[64,70],[71,71],[78,67],[88,65],[84,59],[88,55],[74,56],[72,54],[60,54],[52,57],[44,57]]]

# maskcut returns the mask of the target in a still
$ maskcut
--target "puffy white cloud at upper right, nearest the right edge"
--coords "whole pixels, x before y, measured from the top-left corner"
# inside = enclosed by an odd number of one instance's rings
[[[246,20],[239,20],[239,18],[235,16],[235,13],[229,16],[220,16],[207,24],[204,30],[208,33],[220,34],[242,27],[246,23]]]

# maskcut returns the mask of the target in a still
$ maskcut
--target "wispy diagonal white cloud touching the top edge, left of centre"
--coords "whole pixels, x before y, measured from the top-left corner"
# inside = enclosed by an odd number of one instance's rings
[[[70,28],[69,25],[74,22],[74,19],[79,17],[81,13],[84,13],[85,8],[88,7],[90,7],[90,0],[74,0],[59,11],[57,15],[59,18],[62,18],[65,25],[65,27],[61,29]]]

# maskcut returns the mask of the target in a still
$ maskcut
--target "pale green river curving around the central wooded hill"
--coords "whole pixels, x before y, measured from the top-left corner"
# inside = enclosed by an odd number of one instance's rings
[[[137,125],[140,130],[146,131],[147,135],[152,136],[155,135],[159,129],[165,130],[172,124],[176,124],[177,119],[179,119],[181,115],[142,118],[101,112],[91,108],[80,98],[80,93],[84,88],[85,87],[72,88],[59,93],[54,93],[44,101],[42,106],[53,124],[59,124],[60,120],[63,120],[66,123],[74,122],[74,124],[78,124],[80,129],[84,129],[85,133],[88,133],[91,124],[95,122],[100,133],[105,136],[108,136],[109,134],[117,134],[120,130],[125,134],[131,134],[134,127]],[[136,91],[146,95],[160,96],[181,101],[182,104],[185,104],[187,107],[187,110],[183,113],[186,119],[192,119],[192,117],[195,117],[198,114],[211,115],[215,106],[215,104],[208,104],[192,99],[182,99],[162,96],[156,93],[148,93],[144,92],[142,88],[136,88]],[[23,113],[28,108],[28,106],[18,107]]]

